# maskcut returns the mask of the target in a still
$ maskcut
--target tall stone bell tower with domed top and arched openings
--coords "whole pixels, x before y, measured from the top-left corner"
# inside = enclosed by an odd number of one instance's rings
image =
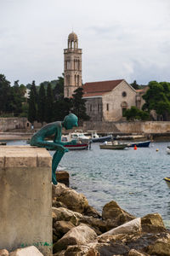
[[[74,90],[82,86],[82,49],[78,49],[78,38],[74,32],[68,36],[64,61],[64,96],[71,98]]]

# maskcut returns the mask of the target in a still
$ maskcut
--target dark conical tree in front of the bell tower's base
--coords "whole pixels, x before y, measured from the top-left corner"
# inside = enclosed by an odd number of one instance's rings
[[[74,91],[72,95],[72,113],[75,113],[79,120],[89,120],[89,116],[86,113],[86,100],[82,99],[83,88],[79,87]]]

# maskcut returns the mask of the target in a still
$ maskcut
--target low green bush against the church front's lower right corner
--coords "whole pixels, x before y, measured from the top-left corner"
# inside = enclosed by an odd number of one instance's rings
[[[127,109],[125,113],[123,114],[124,117],[127,118],[127,120],[149,120],[150,119],[150,114],[140,110],[139,108],[136,108],[132,106],[130,109]]]

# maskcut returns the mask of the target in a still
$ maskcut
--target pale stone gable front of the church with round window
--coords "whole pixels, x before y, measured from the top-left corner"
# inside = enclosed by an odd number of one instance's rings
[[[126,94],[126,96],[122,96]],[[105,121],[117,121],[122,119],[122,108],[136,106],[136,91],[122,81],[114,90],[103,96],[103,119]]]

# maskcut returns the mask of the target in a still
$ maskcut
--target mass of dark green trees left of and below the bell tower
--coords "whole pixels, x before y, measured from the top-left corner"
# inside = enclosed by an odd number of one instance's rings
[[[29,89],[29,98],[25,97]],[[82,89],[75,91],[73,98],[64,98],[64,78],[59,77],[51,82],[44,81],[36,85],[19,84],[11,86],[3,74],[0,74],[0,115],[2,117],[27,117],[34,121],[49,123],[63,120],[68,113],[76,113],[80,120],[89,119],[86,114]]]

